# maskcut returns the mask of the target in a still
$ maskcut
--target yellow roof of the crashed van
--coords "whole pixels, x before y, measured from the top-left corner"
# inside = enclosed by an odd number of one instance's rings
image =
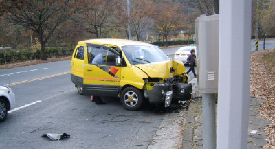
[[[123,47],[126,45],[146,45],[146,46],[155,46],[148,43],[144,43],[141,41],[131,41],[127,39],[89,39],[85,41],[79,41],[78,43],[91,43],[91,44],[99,44],[99,45],[117,45],[119,47]]]

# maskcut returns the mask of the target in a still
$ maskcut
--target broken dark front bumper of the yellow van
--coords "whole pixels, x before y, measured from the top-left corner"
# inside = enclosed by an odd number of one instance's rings
[[[147,85],[144,96],[151,104],[170,106],[172,100],[189,100],[192,93],[192,84],[186,83],[154,83]]]

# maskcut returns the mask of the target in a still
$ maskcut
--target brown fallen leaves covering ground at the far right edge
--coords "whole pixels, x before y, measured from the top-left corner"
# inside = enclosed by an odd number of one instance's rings
[[[272,124],[264,128],[269,143],[264,148],[275,148],[275,49],[251,54],[250,93],[265,100],[260,114]]]

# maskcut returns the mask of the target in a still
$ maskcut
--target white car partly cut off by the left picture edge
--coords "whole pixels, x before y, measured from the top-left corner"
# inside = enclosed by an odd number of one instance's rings
[[[10,87],[0,86],[0,122],[3,122],[8,111],[14,107],[15,95]]]

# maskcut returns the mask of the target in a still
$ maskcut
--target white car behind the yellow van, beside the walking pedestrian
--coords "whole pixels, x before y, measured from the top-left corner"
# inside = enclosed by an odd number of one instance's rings
[[[196,47],[195,46],[185,46],[185,47],[180,47],[176,52],[174,56],[174,60],[181,60],[182,62],[187,62],[188,56],[191,55],[191,50],[195,50],[196,54]]]

